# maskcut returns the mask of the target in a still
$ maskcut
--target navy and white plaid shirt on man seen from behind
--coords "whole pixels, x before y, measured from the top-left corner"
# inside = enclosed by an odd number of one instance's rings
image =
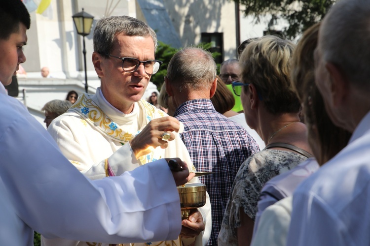
[[[259,152],[254,138],[239,124],[218,113],[211,100],[186,101],[174,117],[184,123],[181,138],[198,172],[207,185],[212,207],[212,232],[207,245],[217,245],[222,218],[236,173],[241,164]]]

